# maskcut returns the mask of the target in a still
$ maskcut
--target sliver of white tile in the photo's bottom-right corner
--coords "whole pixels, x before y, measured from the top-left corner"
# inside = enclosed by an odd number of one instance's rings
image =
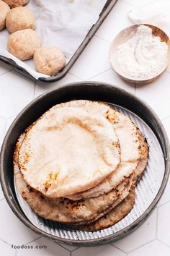
[[[134,252],[128,254],[128,256],[169,256],[169,247],[158,241],[153,241],[136,249]]]

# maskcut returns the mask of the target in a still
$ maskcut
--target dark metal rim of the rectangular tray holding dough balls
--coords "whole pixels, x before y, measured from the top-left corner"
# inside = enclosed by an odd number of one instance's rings
[[[76,52],[73,54],[71,59],[66,64],[66,67],[64,67],[64,69],[61,72],[59,72],[58,74],[55,74],[52,77],[40,77],[39,80],[45,81],[45,82],[55,82],[55,81],[61,80],[61,78],[63,78],[68,73],[68,71],[71,69],[73,64],[76,62],[76,60],[79,58],[81,53],[84,51],[84,48],[86,48],[86,46],[88,45],[91,38],[93,38],[94,34],[97,32],[100,25],[102,25],[102,22],[104,22],[109,12],[111,12],[112,8],[115,7],[115,4],[117,3],[117,1],[118,0],[107,0],[106,4],[104,5],[104,8],[102,9],[102,12],[99,14],[99,20],[97,20],[97,22],[91,27],[91,29],[89,30],[89,33],[87,33],[86,37],[84,38],[79,48],[76,50]],[[11,65],[14,68],[14,70],[19,72],[20,74],[23,74],[25,77],[29,77],[32,80],[36,80],[35,77],[32,77],[31,74],[29,74],[25,69],[17,65],[12,59],[9,59],[0,55],[0,60]]]

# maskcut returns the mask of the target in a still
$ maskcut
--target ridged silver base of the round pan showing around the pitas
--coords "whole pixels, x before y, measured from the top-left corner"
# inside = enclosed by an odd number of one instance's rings
[[[87,232],[87,231],[76,231],[67,229],[66,226],[55,221],[48,221],[37,214],[30,208],[28,203],[24,201],[22,196],[17,191],[15,186],[15,191],[17,194],[17,199],[20,207],[22,208],[25,216],[40,230],[45,231],[47,234],[56,236],[56,238],[71,239],[73,241],[88,241],[91,239],[99,239],[112,234],[117,234],[119,231],[128,228],[132,225],[146,210],[149,208],[153,200],[155,199],[158,191],[161,187],[162,181],[164,179],[164,155],[161,150],[161,145],[158,142],[156,135],[153,133],[150,127],[137,115],[121,106],[113,105],[117,111],[122,112],[126,116],[130,117],[137,127],[143,132],[149,145],[149,158],[148,165],[146,166],[146,171],[144,172],[143,178],[138,183],[135,192],[136,199],[133,209],[130,211],[128,216],[119,221],[114,226],[108,229],[103,229],[101,231]]]

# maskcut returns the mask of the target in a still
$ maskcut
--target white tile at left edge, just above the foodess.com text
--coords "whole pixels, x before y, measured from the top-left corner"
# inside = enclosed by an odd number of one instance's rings
[[[18,220],[7,205],[0,201],[0,238],[9,244],[26,244],[39,237]]]

